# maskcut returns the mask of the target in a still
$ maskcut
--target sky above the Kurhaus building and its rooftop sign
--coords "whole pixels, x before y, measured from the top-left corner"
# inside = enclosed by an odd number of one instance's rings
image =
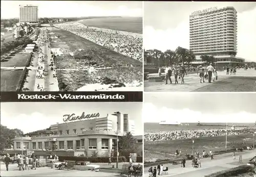
[[[62,123],[63,115],[74,113],[81,116],[99,113],[100,117],[114,112],[129,114],[135,121],[135,135],[143,135],[142,103],[136,102],[41,102],[41,103],[1,103],[1,124],[8,129],[20,129],[24,133],[43,130],[52,124]]]

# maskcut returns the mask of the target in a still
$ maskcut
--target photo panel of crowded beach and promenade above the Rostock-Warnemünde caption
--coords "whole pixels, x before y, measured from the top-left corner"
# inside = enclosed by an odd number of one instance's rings
[[[1,7],[2,91],[143,91],[142,2]]]

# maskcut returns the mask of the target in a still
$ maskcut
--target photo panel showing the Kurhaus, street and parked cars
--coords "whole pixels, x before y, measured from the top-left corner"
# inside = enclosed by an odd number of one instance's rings
[[[1,103],[1,176],[142,176],[141,117],[142,103]]]

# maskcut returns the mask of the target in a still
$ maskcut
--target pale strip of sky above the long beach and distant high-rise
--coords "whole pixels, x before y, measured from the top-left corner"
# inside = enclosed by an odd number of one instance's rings
[[[19,5],[37,5],[38,17],[142,17],[142,2],[116,1],[1,1],[1,19],[18,18]]]

